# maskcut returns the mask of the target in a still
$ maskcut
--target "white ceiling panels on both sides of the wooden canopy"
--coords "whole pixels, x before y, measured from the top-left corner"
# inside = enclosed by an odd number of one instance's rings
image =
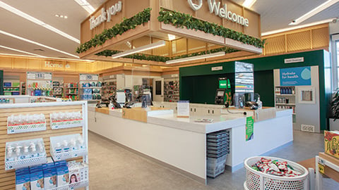
[[[89,13],[79,6],[73,0],[0,0],[9,6],[13,6],[28,15],[31,15],[42,22],[52,25],[57,29],[65,32],[76,39],[80,37],[80,23],[88,17]],[[184,0],[182,0],[184,1]],[[234,0],[238,4],[242,4],[244,0]],[[319,6],[327,0],[257,0],[254,6],[251,7],[254,11],[261,14],[261,32],[268,32],[271,30],[278,30],[290,27],[288,24],[299,18],[304,13],[311,11],[311,9]],[[97,8],[105,2],[105,0],[88,0],[88,2]],[[57,18],[55,15],[67,15],[67,19]],[[303,24],[314,23],[319,20],[339,17],[339,3],[334,4],[321,13],[314,15],[312,18],[304,21]],[[51,46],[54,49],[66,51],[74,56],[76,54],[76,47],[78,44],[71,39],[62,37],[46,28],[30,22],[20,16],[0,8],[0,30],[15,34],[19,37],[24,37],[32,41]],[[339,24],[339,23],[337,23]],[[8,46],[13,49],[21,51],[28,51],[30,53],[39,54],[41,56],[55,57],[55,58],[74,58],[43,46],[23,42],[22,40],[8,37],[0,34],[0,45]],[[42,49],[44,51],[34,51],[34,49]],[[19,53],[0,47],[0,53]]]

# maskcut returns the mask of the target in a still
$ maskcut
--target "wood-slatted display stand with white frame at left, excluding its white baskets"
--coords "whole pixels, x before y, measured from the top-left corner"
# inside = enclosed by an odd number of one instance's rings
[[[59,112],[81,112],[82,122],[78,122],[78,125],[69,126],[62,129],[52,129],[50,122],[50,115],[52,113]],[[43,114],[46,119],[46,129],[39,132],[25,132],[19,134],[7,134],[7,120],[11,115],[25,115],[25,114]],[[83,138],[83,144],[85,145],[85,151],[82,151],[77,156],[73,155],[71,159],[67,161],[76,160],[77,162],[83,162],[88,164],[88,105],[87,101],[73,101],[73,102],[45,102],[45,103],[11,103],[4,104],[0,107],[0,189],[16,189],[15,182],[15,170],[5,170],[5,146],[8,142],[13,141],[25,141],[30,139],[43,140],[44,150],[47,157],[51,155],[51,139],[50,137],[62,137],[70,134],[81,134]],[[71,124],[70,124],[71,125]],[[82,156],[80,156],[82,155]],[[2,160],[2,161],[1,161]],[[60,158],[62,160],[62,158]],[[13,163],[11,163],[13,164]],[[34,164],[34,162],[33,162]],[[25,165],[27,167],[28,165]],[[20,167],[20,166],[19,166]],[[16,166],[16,168],[18,168]],[[70,184],[65,189],[78,189],[80,187],[87,186],[88,180],[78,182],[76,184]],[[59,189],[59,188],[57,188]]]

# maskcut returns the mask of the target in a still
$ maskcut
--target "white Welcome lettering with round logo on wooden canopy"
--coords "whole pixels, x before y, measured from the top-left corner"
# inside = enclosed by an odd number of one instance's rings
[[[191,6],[194,11],[198,11],[198,9],[203,6],[202,0],[199,0],[198,4],[194,4],[192,0],[187,1],[189,2],[189,6]],[[224,4],[224,6],[220,6],[220,1],[215,2],[215,0],[207,0],[207,2],[210,13],[214,12],[215,15],[218,15],[220,18],[225,18],[239,25],[244,25],[246,27],[249,26],[249,19],[244,18],[242,15],[238,15],[237,13],[232,13],[232,11],[230,10],[227,10],[227,4]]]

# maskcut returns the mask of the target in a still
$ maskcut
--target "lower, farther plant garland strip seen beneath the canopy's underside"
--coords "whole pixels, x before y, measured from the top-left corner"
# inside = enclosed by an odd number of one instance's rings
[[[236,52],[239,51],[237,49],[231,49],[231,48],[227,48],[227,47],[222,47],[222,48],[218,48],[218,49],[211,49],[210,51],[199,51],[196,53],[189,53],[189,54],[184,54],[182,56],[174,56],[172,58],[166,57],[166,56],[152,56],[152,55],[146,55],[146,54],[142,54],[142,53],[134,53],[132,55],[129,56],[124,56],[123,58],[134,58],[134,59],[138,59],[138,60],[146,60],[146,61],[157,61],[157,62],[166,62],[169,60],[174,60],[174,59],[178,59],[178,58],[188,58],[188,57],[192,57],[192,56],[201,56],[201,55],[205,55],[205,54],[209,54],[209,53],[216,53],[216,52],[220,52],[220,51],[225,51],[225,53],[232,53],[232,52]],[[96,53],[96,56],[112,56],[116,53],[121,53],[122,51],[117,51],[117,50],[104,50],[101,51],[100,53]]]

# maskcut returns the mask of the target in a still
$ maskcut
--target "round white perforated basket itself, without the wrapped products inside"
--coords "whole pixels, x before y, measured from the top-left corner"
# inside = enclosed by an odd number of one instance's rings
[[[300,172],[302,175],[297,177],[280,177],[275,175],[269,175],[263,172],[259,172],[251,168],[261,158],[267,158],[270,160],[278,160],[279,162],[286,161],[294,170]],[[307,175],[309,172],[305,167],[294,163],[290,160],[274,157],[262,157],[256,156],[247,158],[244,162],[246,169],[246,182],[244,182],[244,189],[248,190],[302,190],[308,189]]]

